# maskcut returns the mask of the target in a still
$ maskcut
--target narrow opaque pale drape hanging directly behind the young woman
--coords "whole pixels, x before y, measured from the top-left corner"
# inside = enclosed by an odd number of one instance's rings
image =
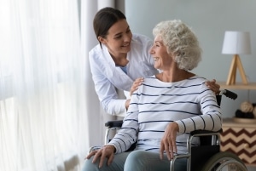
[[[98,97],[95,92],[94,83],[92,82],[90,74],[90,65],[88,59],[88,53],[91,48],[96,46],[98,41],[96,40],[95,33],[93,31],[93,18],[99,9],[104,7],[115,7],[115,0],[96,0],[88,1],[82,0],[81,2],[81,44],[82,55],[85,59],[86,65],[86,97],[90,97],[90,101],[87,104],[87,111],[89,113],[89,128],[90,128],[90,146],[103,145],[105,127],[104,123],[108,120],[113,120],[115,117],[108,115],[102,110]]]

